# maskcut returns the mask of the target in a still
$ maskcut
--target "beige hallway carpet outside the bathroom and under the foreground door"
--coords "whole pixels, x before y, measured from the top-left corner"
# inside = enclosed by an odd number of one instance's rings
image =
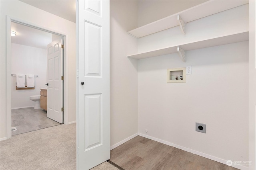
[[[1,170],[76,170],[76,123],[13,136],[0,142]],[[118,170],[104,162],[92,170]]]

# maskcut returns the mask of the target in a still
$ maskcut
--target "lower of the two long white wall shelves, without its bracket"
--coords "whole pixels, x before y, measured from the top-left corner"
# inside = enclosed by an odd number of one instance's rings
[[[162,48],[162,49],[147,51],[144,53],[137,53],[134,55],[129,55],[127,57],[133,58],[133,59],[145,59],[149,57],[178,53],[177,47],[183,49],[184,51],[188,51],[188,50],[212,47],[217,45],[224,45],[229,43],[237,43],[241,41],[247,41],[248,39],[249,39],[249,32],[248,30],[246,30],[238,33],[221,35],[218,37],[211,37],[208,39],[201,39],[199,41],[193,41],[193,42],[184,43],[184,44],[177,44],[177,45],[173,45],[173,46]]]

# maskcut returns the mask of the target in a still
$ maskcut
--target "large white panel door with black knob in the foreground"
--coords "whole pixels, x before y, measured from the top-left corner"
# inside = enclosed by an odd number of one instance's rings
[[[78,0],[77,168],[110,159],[109,0]]]

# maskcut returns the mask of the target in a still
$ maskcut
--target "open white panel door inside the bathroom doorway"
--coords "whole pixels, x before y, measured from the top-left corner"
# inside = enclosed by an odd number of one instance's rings
[[[63,49],[62,39],[47,46],[47,117],[63,123]]]

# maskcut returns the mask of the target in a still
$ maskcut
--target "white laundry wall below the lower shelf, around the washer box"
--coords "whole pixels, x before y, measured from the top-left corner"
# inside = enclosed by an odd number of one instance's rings
[[[186,63],[177,54],[139,60],[139,133],[210,158],[247,161],[248,41],[186,57]],[[186,66],[192,66],[186,83],[166,83],[168,68]],[[196,122],[206,124],[206,134],[195,131]]]

